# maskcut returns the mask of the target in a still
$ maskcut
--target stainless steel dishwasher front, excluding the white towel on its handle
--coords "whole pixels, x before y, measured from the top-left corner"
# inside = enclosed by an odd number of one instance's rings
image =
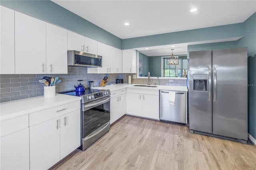
[[[169,92],[175,92],[175,104],[169,103]],[[186,92],[159,90],[160,121],[186,124]]]

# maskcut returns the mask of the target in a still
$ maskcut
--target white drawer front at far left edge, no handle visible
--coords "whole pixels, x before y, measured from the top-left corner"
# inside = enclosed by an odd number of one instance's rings
[[[1,137],[28,127],[28,114],[1,121]]]

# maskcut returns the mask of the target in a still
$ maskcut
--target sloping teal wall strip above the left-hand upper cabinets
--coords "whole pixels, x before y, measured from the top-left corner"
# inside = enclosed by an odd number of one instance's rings
[[[122,49],[122,39],[50,0],[0,0],[0,4]]]

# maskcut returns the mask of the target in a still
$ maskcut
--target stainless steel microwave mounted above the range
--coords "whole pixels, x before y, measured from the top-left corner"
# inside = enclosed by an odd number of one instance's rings
[[[102,56],[70,50],[68,66],[102,67]]]

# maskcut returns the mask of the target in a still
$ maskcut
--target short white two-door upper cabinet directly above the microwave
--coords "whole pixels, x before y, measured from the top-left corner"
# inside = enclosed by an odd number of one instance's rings
[[[98,54],[98,41],[84,37],[78,33],[68,31],[68,50]]]

